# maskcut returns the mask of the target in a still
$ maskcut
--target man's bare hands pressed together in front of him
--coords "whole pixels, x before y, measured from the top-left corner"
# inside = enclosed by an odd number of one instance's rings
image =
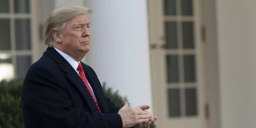
[[[123,121],[123,128],[149,128],[154,125],[157,117],[153,117],[148,110],[148,105],[142,105],[138,107],[129,107],[125,102],[123,108],[118,111]]]

